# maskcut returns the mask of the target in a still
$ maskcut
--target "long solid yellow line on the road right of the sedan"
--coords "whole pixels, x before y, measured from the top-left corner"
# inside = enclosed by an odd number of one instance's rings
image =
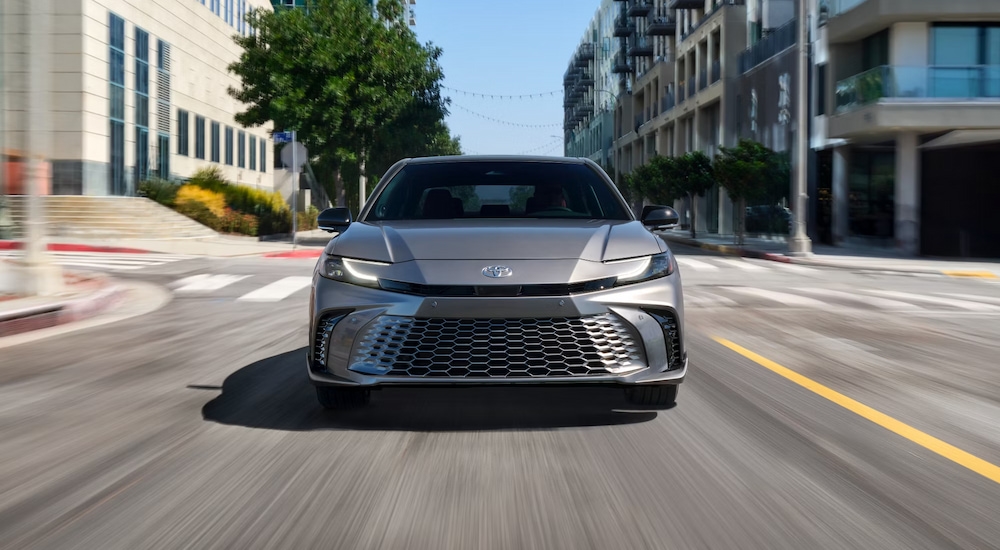
[[[983,477],[995,481],[996,483],[1000,483],[1000,466],[997,466],[996,464],[987,462],[975,455],[969,454],[963,451],[962,449],[959,449],[958,447],[955,447],[954,445],[945,443],[944,441],[941,441],[936,437],[928,435],[914,428],[913,426],[904,424],[903,422],[900,422],[899,420],[896,420],[895,418],[887,414],[880,413],[879,411],[876,411],[875,409],[867,405],[861,404],[842,393],[836,392],[810,378],[806,378],[805,376],[802,376],[801,374],[787,367],[783,367],[775,363],[774,361],[771,361],[766,357],[760,356],[744,347],[739,346],[738,344],[734,344],[729,340],[719,337],[713,337],[713,340],[735,351],[736,353],[742,355],[743,357],[750,359],[751,361],[757,363],[758,365],[765,367],[777,374],[780,374],[781,376],[787,378],[788,380],[791,380],[792,382],[795,382],[796,384],[802,386],[803,388],[806,388],[807,390],[821,397],[825,397],[826,399],[833,401],[834,403],[840,405],[841,407],[844,407],[845,409],[853,412],[854,414],[857,414],[858,416],[861,416],[867,420],[874,422],[875,424],[878,424],[879,426],[882,426],[883,428],[889,430],[890,432],[905,437],[906,439],[909,439],[910,441],[916,443],[917,445],[920,445],[921,447],[927,450],[933,451],[947,458],[948,460],[955,462],[956,464],[965,466],[966,468],[972,470],[973,472],[976,472],[977,474]]]

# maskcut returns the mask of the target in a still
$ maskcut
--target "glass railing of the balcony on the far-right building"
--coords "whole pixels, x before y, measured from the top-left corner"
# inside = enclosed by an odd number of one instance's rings
[[[837,112],[892,99],[1000,100],[1000,65],[883,65],[837,82]]]

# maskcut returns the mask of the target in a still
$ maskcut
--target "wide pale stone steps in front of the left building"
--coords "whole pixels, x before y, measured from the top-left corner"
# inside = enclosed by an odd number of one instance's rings
[[[7,195],[13,238],[24,235],[28,197]],[[194,239],[218,234],[170,208],[143,197],[48,195],[38,198],[45,234],[75,239]]]

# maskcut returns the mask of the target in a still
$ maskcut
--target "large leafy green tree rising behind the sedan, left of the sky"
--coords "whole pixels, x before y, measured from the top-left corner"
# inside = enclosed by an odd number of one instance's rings
[[[364,0],[310,0],[308,12],[256,9],[248,16],[256,33],[234,38],[243,52],[229,70],[240,87],[229,93],[246,106],[236,121],[297,130],[333,173],[338,204],[345,202],[341,169],[353,162],[363,176],[388,126],[407,117],[444,118],[441,51],[417,42],[398,17],[401,9],[386,0],[378,3],[379,17]]]

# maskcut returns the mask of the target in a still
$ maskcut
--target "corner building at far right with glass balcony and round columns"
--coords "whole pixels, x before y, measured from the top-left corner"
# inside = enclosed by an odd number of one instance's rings
[[[1000,257],[1000,3],[817,8],[834,239]]]

